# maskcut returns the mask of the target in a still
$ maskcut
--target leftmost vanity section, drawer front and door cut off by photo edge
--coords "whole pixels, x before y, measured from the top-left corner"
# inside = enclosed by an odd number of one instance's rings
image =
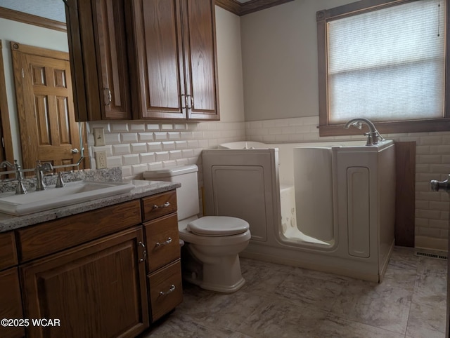
[[[0,319],[23,318],[17,264],[14,232],[0,234]],[[25,337],[25,327],[1,325],[0,337]]]

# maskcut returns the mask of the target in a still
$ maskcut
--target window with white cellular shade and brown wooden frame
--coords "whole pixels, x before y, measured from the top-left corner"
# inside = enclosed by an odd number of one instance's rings
[[[367,7],[367,4],[371,4]],[[317,13],[320,135],[450,130],[446,0],[358,1]]]

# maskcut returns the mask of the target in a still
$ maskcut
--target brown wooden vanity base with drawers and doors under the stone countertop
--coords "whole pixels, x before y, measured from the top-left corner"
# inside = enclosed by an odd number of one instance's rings
[[[183,300],[176,191],[0,234],[0,299],[60,324],[2,338],[136,337]]]

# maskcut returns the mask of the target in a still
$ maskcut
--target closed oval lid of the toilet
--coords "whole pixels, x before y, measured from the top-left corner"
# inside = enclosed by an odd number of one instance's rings
[[[228,216],[205,216],[189,222],[186,229],[200,236],[231,236],[249,229],[248,222]]]

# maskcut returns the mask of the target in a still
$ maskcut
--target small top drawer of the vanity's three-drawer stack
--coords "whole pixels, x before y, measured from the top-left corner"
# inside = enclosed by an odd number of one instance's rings
[[[176,211],[176,190],[142,198],[143,221]]]

